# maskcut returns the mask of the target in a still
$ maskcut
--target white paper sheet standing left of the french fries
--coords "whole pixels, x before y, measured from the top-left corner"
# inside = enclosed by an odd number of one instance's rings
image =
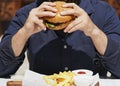
[[[22,86],[49,86],[43,79],[43,74],[39,74],[30,70],[26,70],[22,81]]]

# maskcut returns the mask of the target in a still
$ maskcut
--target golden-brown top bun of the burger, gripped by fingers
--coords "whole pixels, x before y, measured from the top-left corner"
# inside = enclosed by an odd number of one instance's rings
[[[52,23],[64,23],[64,22],[68,22],[73,19],[73,16],[71,16],[71,15],[68,15],[68,16],[60,15],[60,12],[72,9],[72,8],[63,8],[62,7],[62,5],[64,5],[66,2],[55,1],[54,3],[56,4],[55,8],[58,10],[55,17],[44,17],[44,20],[47,20],[48,22],[52,22]]]

